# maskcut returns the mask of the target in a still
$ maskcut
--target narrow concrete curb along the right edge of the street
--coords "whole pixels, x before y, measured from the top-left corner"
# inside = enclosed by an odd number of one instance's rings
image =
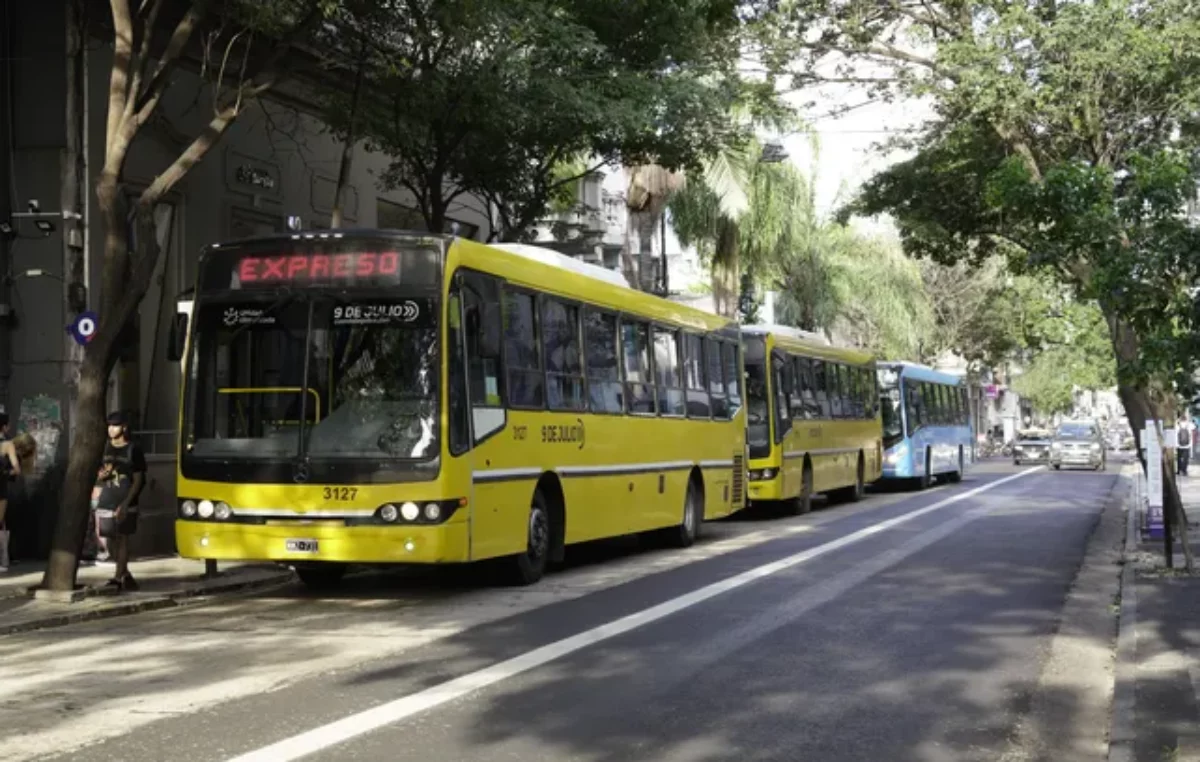
[[[1134,712],[1138,684],[1138,581],[1129,553],[1138,548],[1138,506],[1126,494],[1126,536],[1121,553],[1121,608],[1112,665],[1112,715],[1109,721],[1110,762],[1133,762]]]

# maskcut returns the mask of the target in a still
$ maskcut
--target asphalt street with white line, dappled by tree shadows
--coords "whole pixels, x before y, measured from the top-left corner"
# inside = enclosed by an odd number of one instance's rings
[[[1116,479],[988,463],[527,589],[370,574],[0,638],[0,758],[1000,760]]]

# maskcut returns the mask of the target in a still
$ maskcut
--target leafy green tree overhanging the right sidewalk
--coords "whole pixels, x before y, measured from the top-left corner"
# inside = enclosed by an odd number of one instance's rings
[[[910,252],[1000,254],[1094,300],[1134,431],[1174,419],[1200,341],[1188,292],[1200,247],[1181,214],[1200,179],[1194,4],[798,0],[782,12],[802,83],[836,59],[839,79],[935,106],[906,142],[914,156],[857,211],[892,214]],[[1170,522],[1182,505],[1164,470]]]

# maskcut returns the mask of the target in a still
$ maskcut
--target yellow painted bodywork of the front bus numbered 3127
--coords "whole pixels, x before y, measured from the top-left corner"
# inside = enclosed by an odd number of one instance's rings
[[[700,334],[736,329],[715,314],[463,239],[454,239],[446,254],[443,326],[460,268],[671,328]],[[448,335],[442,331],[443,358],[449,356]],[[738,358],[740,373],[740,349]],[[198,559],[422,564],[511,556],[526,550],[529,505],[542,479],[560,485],[566,544],[679,524],[694,469],[703,480],[707,520],[746,505],[744,402],[730,420],[509,408],[503,428],[456,457],[448,449],[448,362],[440,365],[437,479],[349,485],[356,488],[353,499],[331,500],[326,485],[193,481],[180,472],[180,500],[226,502],[234,514],[241,508],[289,515],[260,524],[178,520],[179,553]],[[336,526],[319,517],[335,509],[370,514],[386,503],[456,498],[467,504],[444,524]],[[289,552],[289,539],[314,539],[318,551]]]

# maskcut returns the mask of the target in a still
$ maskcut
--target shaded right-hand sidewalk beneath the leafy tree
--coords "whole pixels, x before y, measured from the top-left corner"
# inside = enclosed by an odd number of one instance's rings
[[[1192,524],[1192,550],[1200,554],[1200,468],[1193,464],[1178,484]],[[1109,758],[1200,762],[1200,571],[1196,576],[1182,571],[1177,542],[1175,570],[1164,565],[1162,540],[1142,540],[1139,534],[1129,551],[1133,606],[1122,612],[1130,619],[1122,622],[1122,630],[1132,625],[1133,743]]]

